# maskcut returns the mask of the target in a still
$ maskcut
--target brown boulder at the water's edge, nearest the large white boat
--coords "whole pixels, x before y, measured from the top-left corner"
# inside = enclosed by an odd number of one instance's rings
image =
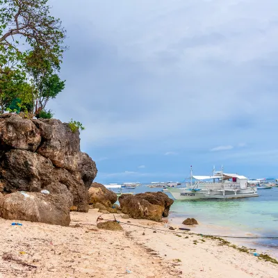
[[[131,218],[149,219],[161,222],[162,217],[169,215],[170,206],[173,200],[166,194],[140,193],[136,195],[124,194],[119,197],[122,213],[126,213]]]

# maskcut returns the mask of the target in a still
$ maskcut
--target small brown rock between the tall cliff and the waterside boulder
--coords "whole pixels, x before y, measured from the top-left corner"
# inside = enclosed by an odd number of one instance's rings
[[[117,202],[117,194],[108,190],[101,183],[92,183],[88,193],[89,204],[101,203],[107,208],[111,208],[112,204]]]

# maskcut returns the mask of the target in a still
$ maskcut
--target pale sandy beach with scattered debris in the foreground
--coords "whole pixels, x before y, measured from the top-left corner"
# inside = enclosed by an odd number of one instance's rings
[[[99,215],[74,212],[70,227],[11,226],[13,221],[0,219],[0,277],[278,277],[278,265],[220,246],[218,240],[120,215],[115,216],[124,231],[100,230]],[[113,220],[112,214],[102,217]]]

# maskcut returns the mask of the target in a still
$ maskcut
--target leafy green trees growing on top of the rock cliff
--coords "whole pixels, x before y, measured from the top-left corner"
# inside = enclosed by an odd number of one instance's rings
[[[63,40],[66,32],[60,19],[50,15],[47,2],[0,0],[2,113],[10,99],[18,97],[19,86],[22,86],[21,103],[32,112],[35,104],[39,102],[40,108],[44,108],[47,101],[56,97],[65,87],[65,81],[60,81],[57,72],[65,50]],[[38,105],[36,108],[38,110]]]

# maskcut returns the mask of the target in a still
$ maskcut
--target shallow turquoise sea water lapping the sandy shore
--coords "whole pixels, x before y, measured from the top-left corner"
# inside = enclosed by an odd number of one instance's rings
[[[142,185],[124,192],[161,191]],[[168,217],[170,223],[184,227],[186,218],[199,225],[191,231],[212,236],[230,236],[231,243],[254,248],[278,258],[278,187],[259,189],[259,197],[240,199],[206,199],[174,201]],[[172,198],[170,193],[166,193]],[[254,238],[258,237],[258,238]]]

